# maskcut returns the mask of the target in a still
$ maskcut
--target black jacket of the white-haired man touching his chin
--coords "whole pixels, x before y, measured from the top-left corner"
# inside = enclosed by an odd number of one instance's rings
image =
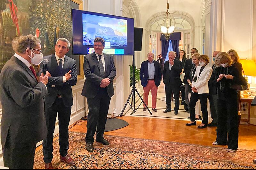
[[[182,84],[180,79],[180,72],[182,71],[181,61],[174,59],[174,64],[169,69],[169,60],[164,62],[164,71],[163,71],[163,78],[164,84],[171,85],[171,86],[180,86]]]

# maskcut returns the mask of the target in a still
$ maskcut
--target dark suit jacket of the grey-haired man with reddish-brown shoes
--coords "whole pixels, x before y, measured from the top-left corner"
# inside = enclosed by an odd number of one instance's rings
[[[77,81],[76,60],[65,55],[62,71],[60,72],[55,54],[44,56],[44,59],[49,61],[47,68],[52,75],[52,77],[48,77],[48,83],[46,85],[48,90],[48,95],[45,96],[46,107],[49,108],[52,106],[57,97],[57,93],[61,93],[63,103],[66,107],[72,106],[73,94],[71,86],[76,85]],[[42,70],[43,63],[40,65],[40,74]],[[63,83],[63,76],[65,76],[69,70],[71,70],[71,78]]]

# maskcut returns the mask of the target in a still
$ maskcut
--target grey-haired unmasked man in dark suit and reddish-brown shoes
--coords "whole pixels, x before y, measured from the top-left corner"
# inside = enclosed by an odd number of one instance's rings
[[[66,55],[69,47],[70,43],[67,39],[59,38],[55,45],[55,53],[44,57],[44,59],[49,61],[47,68],[51,74],[47,83],[48,95],[45,96],[45,117],[48,131],[47,138],[43,140],[45,169],[53,168],[52,141],[57,113],[59,120],[60,161],[70,166],[75,165],[74,159],[68,155],[68,124],[71,106],[73,105],[71,86],[76,85],[77,70],[76,60]],[[40,72],[42,70],[43,66],[41,65]]]

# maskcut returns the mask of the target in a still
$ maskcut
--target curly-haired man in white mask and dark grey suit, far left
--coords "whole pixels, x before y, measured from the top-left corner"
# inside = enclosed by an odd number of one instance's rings
[[[0,74],[0,99],[3,108],[1,143],[4,166],[33,169],[36,143],[46,137],[44,95],[49,73],[37,80],[32,64],[43,60],[40,40],[22,35],[12,41],[15,54]]]

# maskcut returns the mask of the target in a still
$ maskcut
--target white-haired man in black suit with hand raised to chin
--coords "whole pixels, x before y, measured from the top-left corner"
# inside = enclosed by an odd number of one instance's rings
[[[175,59],[175,52],[169,52],[169,60],[164,63],[164,71],[163,71],[163,78],[164,78],[164,86],[165,86],[165,101],[166,101],[166,110],[164,113],[171,112],[171,96],[172,92],[175,99],[175,107],[174,107],[174,114],[178,115],[179,107],[180,107],[180,72],[182,71],[181,61]]]

